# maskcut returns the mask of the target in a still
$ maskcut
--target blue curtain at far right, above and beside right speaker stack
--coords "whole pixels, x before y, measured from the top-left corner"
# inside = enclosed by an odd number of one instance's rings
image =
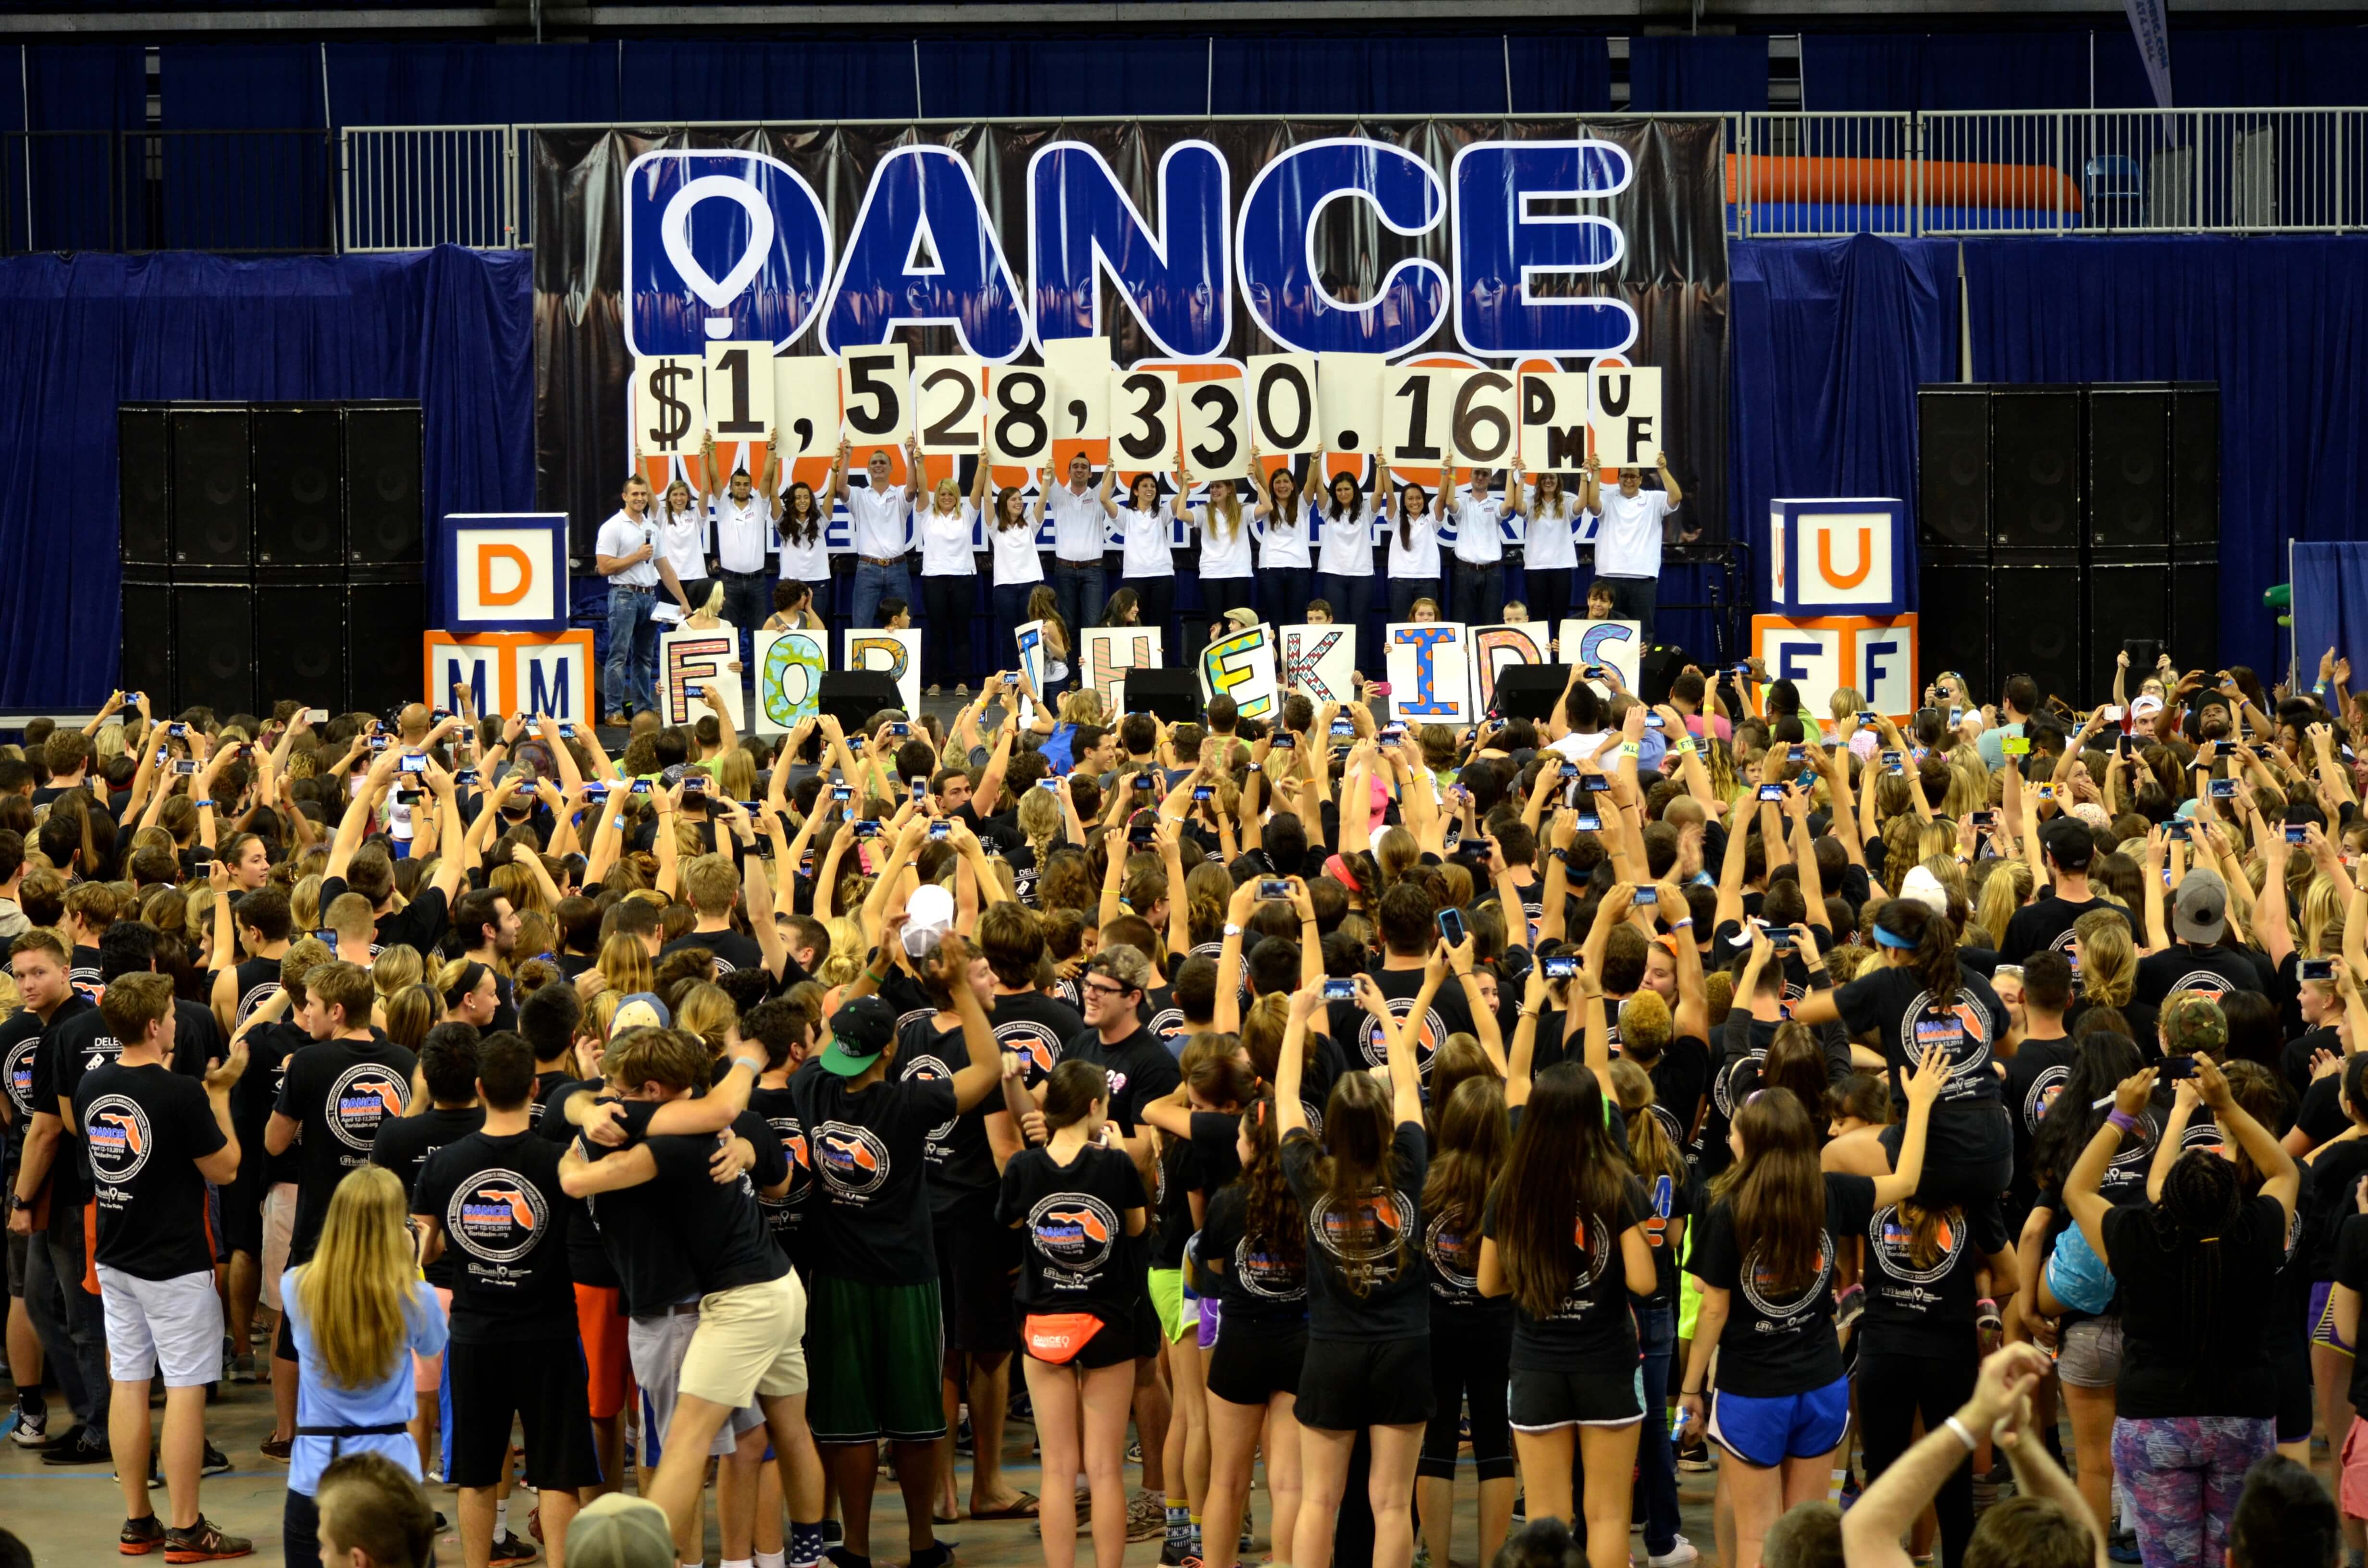
[[[2219,381],[2221,658],[2283,668],[2285,538],[2368,538],[2368,246],[1987,239],[1965,287],[1975,381]]]

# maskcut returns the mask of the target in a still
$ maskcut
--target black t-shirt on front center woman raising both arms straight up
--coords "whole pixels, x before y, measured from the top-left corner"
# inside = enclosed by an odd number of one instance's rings
[[[1418,1267],[1423,1172],[1421,1123],[1390,1139],[1390,1191],[1336,1206],[1317,1184],[1324,1146],[1307,1132],[1283,1139],[1283,1180],[1307,1217],[1307,1334],[1312,1338],[1416,1338],[1430,1331],[1430,1291]]]

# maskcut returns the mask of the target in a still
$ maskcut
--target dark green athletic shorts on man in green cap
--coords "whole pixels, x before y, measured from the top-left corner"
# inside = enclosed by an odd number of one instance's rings
[[[931,1442],[945,1435],[938,1281],[860,1284],[815,1274],[805,1303],[805,1421],[815,1442]]]

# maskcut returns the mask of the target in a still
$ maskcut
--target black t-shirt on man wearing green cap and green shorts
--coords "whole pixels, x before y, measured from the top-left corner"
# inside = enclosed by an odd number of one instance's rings
[[[815,1056],[789,1080],[789,1094],[815,1161],[819,1203],[805,1220],[815,1270],[862,1284],[938,1279],[928,1132],[954,1120],[954,1085],[883,1078],[850,1092]]]

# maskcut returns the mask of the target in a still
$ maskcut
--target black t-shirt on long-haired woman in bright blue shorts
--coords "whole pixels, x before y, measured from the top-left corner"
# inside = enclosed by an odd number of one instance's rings
[[[1816,1272],[1800,1289],[1785,1289],[1769,1277],[1759,1241],[1736,1236],[1733,1203],[1719,1199],[1707,1208],[1691,1272],[1729,1293],[1726,1331],[1719,1334],[1719,1393],[1781,1400],[1840,1381],[1842,1345],[1833,1336],[1835,1244],[1864,1232],[1873,1213],[1871,1177],[1826,1175]]]

